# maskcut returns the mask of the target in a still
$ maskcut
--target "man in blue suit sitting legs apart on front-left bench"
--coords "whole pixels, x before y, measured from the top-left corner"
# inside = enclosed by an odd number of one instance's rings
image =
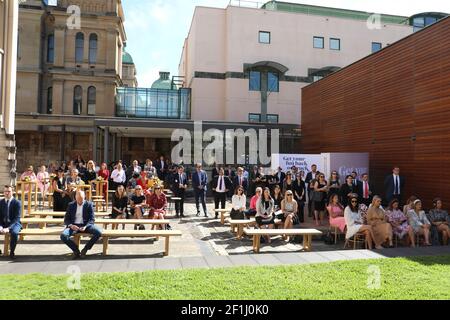
[[[94,207],[92,203],[85,201],[84,191],[77,191],[76,201],[69,204],[64,218],[66,229],[61,234],[61,240],[73,251],[74,259],[85,257],[92,249],[97,240],[102,236],[102,231],[94,225]],[[77,233],[88,233],[92,235],[91,240],[80,252],[78,246],[70,240]]]

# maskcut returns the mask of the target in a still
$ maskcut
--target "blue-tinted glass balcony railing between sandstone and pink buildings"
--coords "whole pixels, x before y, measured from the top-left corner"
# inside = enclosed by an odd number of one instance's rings
[[[116,116],[188,120],[191,118],[191,89],[118,88]]]

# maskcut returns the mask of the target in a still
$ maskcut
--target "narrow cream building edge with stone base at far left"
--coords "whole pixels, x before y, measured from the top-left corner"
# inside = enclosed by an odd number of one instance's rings
[[[18,1],[0,1],[0,184],[14,184]]]

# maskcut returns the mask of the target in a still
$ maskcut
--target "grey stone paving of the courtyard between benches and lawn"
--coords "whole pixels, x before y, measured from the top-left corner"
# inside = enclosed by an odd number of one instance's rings
[[[251,238],[237,240],[229,225],[219,219],[196,217],[195,205],[185,205],[187,217],[170,218],[173,229],[181,230],[181,237],[170,240],[170,255],[163,257],[164,240],[112,239],[108,256],[101,255],[99,242],[85,260],[72,261],[70,250],[57,236],[26,237],[19,242],[14,262],[0,258],[0,273],[65,273],[68,266],[78,265],[82,272],[144,271],[153,269],[214,268],[243,265],[283,265],[320,263],[348,259],[370,259],[410,255],[450,254],[450,246],[431,248],[397,248],[381,251],[343,250],[344,242],[326,245],[320,237],[313,240],[313,252],[301,252],[302,245],[273,238],[270,245],[262,244],[261,253],[252,251]],[[210,215],[213,206],[208,205]],[[302,228],[315,228],[307,218]],[[54,227],[52,227],[54,228]],[[60,227],[59,227],[60,228]],[[132,226],[127,226],[132,228]],[[328,226],[319,228],[324,233]],[[1,239],[3,247],[3,239]],[[83,241],[84,243],[84,241]]]

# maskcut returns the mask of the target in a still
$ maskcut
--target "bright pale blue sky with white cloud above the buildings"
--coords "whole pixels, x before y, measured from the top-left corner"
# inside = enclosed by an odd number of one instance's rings
[[[236,4],[238,1],[232,1]],[[242,1],[243,3],[245,1]],[[449,0],[286,0],[343,9],[411,16],[448,12]],[[150,87],[159,71],[178,75],[178,63],[196,6],[225,8],[230,0],[122,0],[127,33],[126,50],[137,68],[139,87]],[[260,2],[260,6],[264,2]],[[256,1],[245,3],[255,6]]]

